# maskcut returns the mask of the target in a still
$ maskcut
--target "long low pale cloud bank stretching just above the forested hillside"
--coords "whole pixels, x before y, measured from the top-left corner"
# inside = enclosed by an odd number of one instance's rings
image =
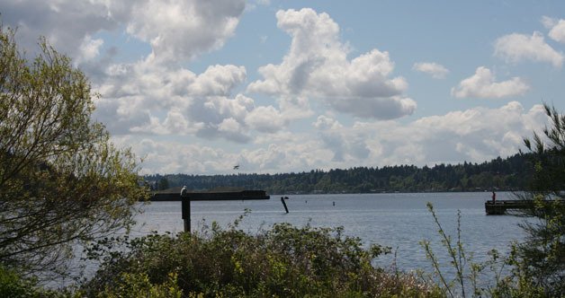
[[[402,123],[397,120],[339,123],[320,115],[317,133],[278,131],[256,139],[242,151],[220,149],[198,141],[151,141],[143,136],[118,136],[146,156],[147,172],[229,173],[235,163],[248,172],[290,172],[312,169],[394,164],[484,162],[523,148],[522,137],[547,123],[543,107],[526,110],[517,101],[498,108],[455,110]]]

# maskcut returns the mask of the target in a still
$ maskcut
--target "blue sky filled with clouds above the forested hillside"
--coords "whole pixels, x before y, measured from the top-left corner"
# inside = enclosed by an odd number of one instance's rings
[[[565,2],[3,0],[142,174],[485,162],[565,111]],[[239,165],[238,170],[234,166]]]

